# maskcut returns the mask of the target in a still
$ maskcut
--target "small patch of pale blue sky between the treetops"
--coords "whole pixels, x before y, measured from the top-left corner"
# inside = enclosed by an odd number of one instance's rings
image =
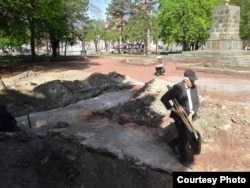
[[[111,0],[89,0],[89,17],[92,19],[105,19],[106,8]]]

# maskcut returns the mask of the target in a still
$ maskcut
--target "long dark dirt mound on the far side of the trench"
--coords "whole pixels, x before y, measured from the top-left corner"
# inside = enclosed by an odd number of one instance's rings
[[[107,75],[95,73],[85,80],[53,80],[35,87],[33,92],[46,109],[53,109],[119,90],[124,79],[115,72]]]

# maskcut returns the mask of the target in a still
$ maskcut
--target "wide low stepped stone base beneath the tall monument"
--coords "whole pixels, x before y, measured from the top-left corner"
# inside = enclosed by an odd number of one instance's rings
[[[168,55],[177,60],[176,69],[193,69],[200,72],[250,75],[250,50],[200,50]]]

